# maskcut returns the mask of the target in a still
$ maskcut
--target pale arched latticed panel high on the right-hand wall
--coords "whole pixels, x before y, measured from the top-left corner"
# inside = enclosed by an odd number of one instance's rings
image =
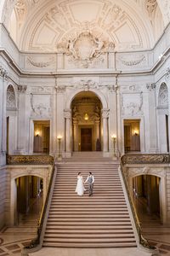
[[[168,108],[168,88],[165,82],[161,83],[159,88],[158,106],[160,108]]]

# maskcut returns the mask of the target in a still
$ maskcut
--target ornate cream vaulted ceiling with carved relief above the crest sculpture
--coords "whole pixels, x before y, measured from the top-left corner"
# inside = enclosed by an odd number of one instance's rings
[[[168,0],[1,0],[1,20],[21,50],[59,52],[76,38],[150,49],[170,20]]]

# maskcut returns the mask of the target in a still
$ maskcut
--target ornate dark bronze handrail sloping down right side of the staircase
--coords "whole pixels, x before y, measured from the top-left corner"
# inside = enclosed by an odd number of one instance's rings
[[[122,158],[126,156],[126,155],[123,155]],[[135,210],[135,207],[134,207],[134,204],[133,204],[133,200],[132,200],[132,197],[130,195],[130,191],[128,189],[128,184],[127,184],[127,178],[125,177],[125,173],[123,172],[123,164],[122,164],[122,158],[121,158],[121,172],[122,172],[122,178],[123,178],[123,182],[124,182],[124,185],[125,185],[125,189],[127,191],[127,197],[128,197],[128,201],[129,201],[129,205],[131,207],[131,211],[133,213],[133,220],[134,220],[134,224],[136,226],[136,230],[137,230],[137,233],[138,233],[138,236],[139,236],[139,244],[147,249],[151,249],[151,250],[156,250],[156,247],[154,246],[151,246],[150,243],[144,238],[144,236],[142,235],[142,232],[141,232],[141,225],[140,225],[140,222],[139,222],[139,218],[138,218],[138,214]]]

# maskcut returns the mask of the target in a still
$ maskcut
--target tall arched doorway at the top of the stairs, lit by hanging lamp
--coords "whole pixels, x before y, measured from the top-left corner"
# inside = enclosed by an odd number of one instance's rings
[[[91,91],[79,92],[71,102],[72,151],[100,151],[102,148],[102,103]]]

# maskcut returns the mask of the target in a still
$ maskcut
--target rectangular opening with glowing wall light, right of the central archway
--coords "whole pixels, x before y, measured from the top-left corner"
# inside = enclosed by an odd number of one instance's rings
[[[125,153],[140,151],[140,120],[124,119],[124,148]]]

